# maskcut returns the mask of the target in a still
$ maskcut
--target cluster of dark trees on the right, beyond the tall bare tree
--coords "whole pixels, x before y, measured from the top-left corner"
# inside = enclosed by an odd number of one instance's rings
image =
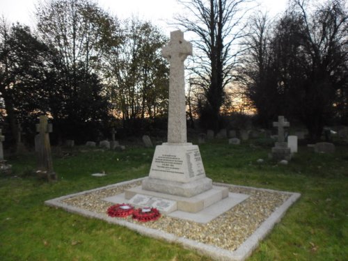
[[[262,125],[285,115],[318,140],[333,119],[348,123],[345,8],[333,0],[310,12],[305,1],[294,0],[274,26],[264,15],[253,17],[242,73]]]

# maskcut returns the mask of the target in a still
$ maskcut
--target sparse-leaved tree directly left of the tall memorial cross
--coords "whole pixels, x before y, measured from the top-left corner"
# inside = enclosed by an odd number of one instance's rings
[[[168,67],[160,49],[166,38],[156,26],[137,17],[122,22],[104,53],[104,75],[111,100],[123,126],[139,129],[137,122],[154,119],[168,107]]]

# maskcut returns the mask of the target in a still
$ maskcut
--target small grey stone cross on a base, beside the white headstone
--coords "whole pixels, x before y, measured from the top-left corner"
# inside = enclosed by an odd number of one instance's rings
[[[284,116],[278,116],[278,122],[273,122],[274,127],[278,127],[278,142],[271,150],[271,158],[276,160],[285,159],[289,161],[291,159],[291,150],[287,147],[285,142],[285,129],[289,127],[290,123],[286,121]]]

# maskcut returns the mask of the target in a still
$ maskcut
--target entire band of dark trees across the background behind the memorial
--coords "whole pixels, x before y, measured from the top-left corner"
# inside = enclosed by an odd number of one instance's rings
[[[303,122],[316,140],[331,120],[348,123],[345,1],[311,9],[292,0],[278,19],[259,14],[248,25],[242,22],[248,0],[178,2],[191,16],[178,17],[177,25],[196,35],[191,122],[198,114],[203,127],[223,127],[221,114],[239,106],[230,99],[237,86],[264,127],[284,115]],[[77,143],[97,139],[117,118],[129,132],[163,122],[168,63],[159,50],[168,39],[156,26],[120,21],[83,0],[43,1],[36,18],[35,33],[0,24],[1,115],[13,139],[18,122],[33,126],[42,113],[54,120],[58,140]]]

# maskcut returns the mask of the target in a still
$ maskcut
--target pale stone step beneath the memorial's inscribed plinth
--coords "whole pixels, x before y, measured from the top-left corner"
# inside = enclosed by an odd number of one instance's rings
[[[196,213],[200,212],[206,207],[209,207],[210,205],[213,205],[214,203],[219,202],[223,198],[227,198],[228,188],[212,186],[212,189],[209,189],[208,191],[205,191],[203,193],[189,198],[184,196],[170,195],[168,193],[148,191],[142,189],[141,186],[125,191],[125,199],[127,200],[131,200],[133,197],[136,197],[137,195],[145,195],[154,198],[164,198],[165,200],[175,201],[176,209],[172,208],[171,212],[175,210],[181,210],[183,212]]]

